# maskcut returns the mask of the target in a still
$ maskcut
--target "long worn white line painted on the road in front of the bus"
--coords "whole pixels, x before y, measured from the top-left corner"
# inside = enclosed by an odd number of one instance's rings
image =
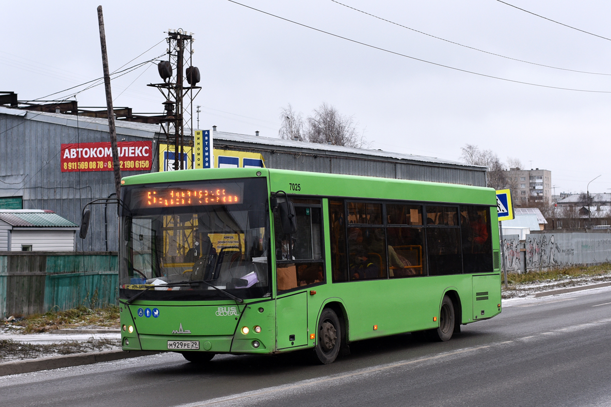
[[[489,347],[491,347],[491,345],[478,346],[474,348],[466,348],[463,350],[447,352],[447,353],[440,353],[434,356],[428,356],[428,358],[419,358],[419,359],[412,359],[409,361],[384,364],[384,365],[374,366],[369,369],[354,370],[353,372],[345,373],[343,375],[340,374],[340,375],[335,375],[335,376],[323,376],[318,379],[309,379],[309,380],[298,381],[294,384],[284,384],[282,386],[267,387],[265,389],[243,392],[243,393],[238,393],[238,394],[232,394],[232,395],[225,396],[225,397],[211,398],[210,400],[203,400],[202,402],[181,404],[181,405],[177,405],[174,407],[204,407],[204,406],[210,406],[210,405],[215,405],[219,403],[230,403],[230,405],[232,405],[232,403],[243,402],[246,398],[250,398],[250,397],[261,397],[261,396],[271,395],[277,392],[296,390],[296,389],[300,389],[305,386],[315,386],[317,384],[329,383],[332,381],[352,378],[354,376],[367,375],[369,373],[376,373],[376,372],[381,372],[383,370],[395,369],[397,367],[408,366],[408,365],[416,364],[419,362],[426,362],[426,361],[432,361],[435,359],[441,359],[447,356],[461,355],[462,353],[472,352],[472,351],[481,350],[481,349],[487,349]]]

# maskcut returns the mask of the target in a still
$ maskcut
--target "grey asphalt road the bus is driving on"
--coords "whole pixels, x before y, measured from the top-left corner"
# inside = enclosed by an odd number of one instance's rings
[[[0,406],[611,406],[611,287],[509,300],[443,343],[409,334],[301,355],[172,353],[0,378]]]

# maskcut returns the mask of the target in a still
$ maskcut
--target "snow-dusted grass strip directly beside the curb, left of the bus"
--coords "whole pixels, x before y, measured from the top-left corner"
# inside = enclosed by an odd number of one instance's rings
[[[109,350],[119,346],[117,340],[89,339],[86,342],[61,342],[59,344],[24,344],[12,339],[0,339],[0,361],[34,359],[41,356],[70,355],[91,351]]]

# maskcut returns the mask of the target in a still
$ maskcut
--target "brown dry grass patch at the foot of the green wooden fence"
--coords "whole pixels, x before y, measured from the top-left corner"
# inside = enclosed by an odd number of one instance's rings
[[[5,322],[13,326],[22,326],[22,333],[42,333],[76,326],[96,325],[107,328],[119,328],[119,307],[90,309],[79,306],[66,311],[48,311],[45,314],[28,315],[23,319]]]

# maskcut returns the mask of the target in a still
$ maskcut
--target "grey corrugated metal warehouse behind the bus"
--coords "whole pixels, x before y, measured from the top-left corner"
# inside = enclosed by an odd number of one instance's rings
[[[159,126],[117,121],[119,142],[152,140],[158,159]],[[486,185],[483,167],[388,151],[280,140],[214,131],[214,148],[261,153],[268,168]],[[62,143],[108,142],[108,121],[0,107],[0,204],[23,197],[24,209],[50,209],[80,223],[82,207],[114,193],[112,171],[62,172]],[[161,139],[164,142],[164,139]],[[153,171],[158,162],[153,162]],[[122,171],[136,175],[148,171]],[[87,239],[76,250],[117,250],[116,205],[92,208]]]

